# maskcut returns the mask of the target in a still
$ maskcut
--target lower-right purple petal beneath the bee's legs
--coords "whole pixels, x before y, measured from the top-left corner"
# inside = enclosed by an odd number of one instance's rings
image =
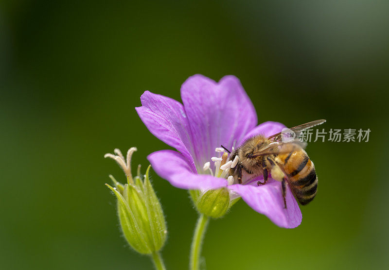
[[[295,228],[300,225],[302,215],[299,204],[293,197],[289,187],[286,191],[286,206],[284,208],[281,183],[269,179],[263,186],[235,184],[228,186],[235,191],[252,209],[266,215],[277,226]]]

